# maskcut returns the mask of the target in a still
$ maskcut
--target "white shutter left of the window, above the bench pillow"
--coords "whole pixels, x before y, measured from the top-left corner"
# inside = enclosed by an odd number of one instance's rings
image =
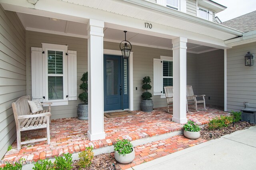
[[[32,100],[43,102],[42,48],[31,47]]]

